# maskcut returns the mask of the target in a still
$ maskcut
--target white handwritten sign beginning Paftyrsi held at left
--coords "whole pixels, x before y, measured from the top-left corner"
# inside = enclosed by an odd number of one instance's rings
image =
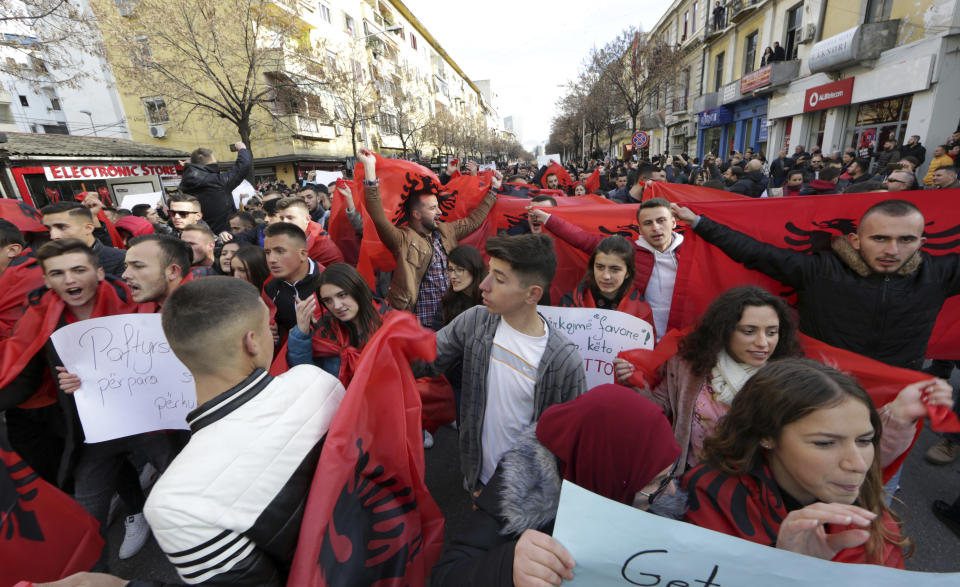
[[[83,320],[50,340],[80,377],[74,398],[87,442],[187,428],[197,406],[193,376],[170,350],[160,314]]]

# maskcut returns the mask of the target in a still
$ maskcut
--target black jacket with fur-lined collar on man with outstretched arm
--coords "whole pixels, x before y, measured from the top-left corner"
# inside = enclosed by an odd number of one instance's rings
[[[918,369],[941,306],[960,294],[960,255],[917,251],[892,275],[873,273],[843,237],[803,253],[701,216],[694,228],[731,259],[796,289],[800,330],[888,365]]]

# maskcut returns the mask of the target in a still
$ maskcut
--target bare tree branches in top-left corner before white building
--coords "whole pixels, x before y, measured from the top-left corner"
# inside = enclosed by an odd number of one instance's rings
[[[102,55],[100,33],[83,4],[67,0],[0,1],[0,73],[29,84],[77,87]]]

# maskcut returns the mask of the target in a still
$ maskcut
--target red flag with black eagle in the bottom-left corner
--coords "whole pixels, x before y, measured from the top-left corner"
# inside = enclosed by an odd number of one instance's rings
[[[0,430],[0,585],[89,570],[103,549],[99,526],[13,452]]]

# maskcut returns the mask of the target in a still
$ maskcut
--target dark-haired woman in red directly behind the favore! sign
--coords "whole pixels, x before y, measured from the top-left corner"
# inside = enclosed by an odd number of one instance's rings
[[[577,288],[563,296],[560,305],[574,308],[617,310],[646,320],[653,312],[643,294],[633,287],[636,273],[633,244],[622,236],[608,236],[590,255],[587,273]]]

